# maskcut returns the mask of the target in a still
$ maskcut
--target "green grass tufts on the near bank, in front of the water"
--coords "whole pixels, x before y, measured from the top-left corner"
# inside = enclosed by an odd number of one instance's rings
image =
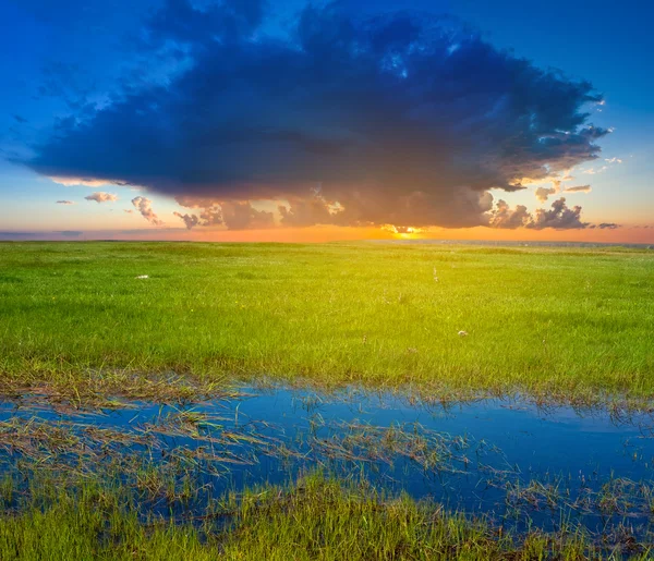
[[[3,495],[10,491],[5,484]],[[611,550],[616,559],[649,558],[649,549],[628,539],[601,550],[573,528],[511,537],[431,502],[382,497],[322,475],[222,498],[194,525],[144,520],[129,495],[96,481],[75,490],[41,484],[19,513],[0,514],[0,559],[562,561],[606,559]]]

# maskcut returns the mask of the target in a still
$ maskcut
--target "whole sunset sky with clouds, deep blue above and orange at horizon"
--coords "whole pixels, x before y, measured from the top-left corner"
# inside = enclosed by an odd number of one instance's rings
[[[5,0],[0,240],[654,243],[653,19]]]

